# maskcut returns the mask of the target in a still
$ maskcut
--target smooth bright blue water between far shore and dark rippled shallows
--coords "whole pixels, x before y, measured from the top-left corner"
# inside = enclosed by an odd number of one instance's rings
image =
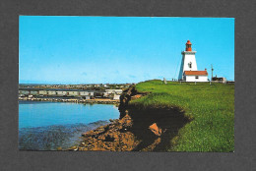
[[[19,102],[19,128],[89,124],[99,120],[117,119],[118,117],[118,108],[111,104]]]

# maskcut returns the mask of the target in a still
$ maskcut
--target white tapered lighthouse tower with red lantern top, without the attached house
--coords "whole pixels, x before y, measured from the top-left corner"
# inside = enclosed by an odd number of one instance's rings
[[[184,71],[197,71],[197,63],[196,63],[196,51],[192,51],[191,47],[192,43],[187,40],[186,50],[182,51],[182,61],[180,65],[180,71],[178,75],[178,80],[183,81],[183,73]]]

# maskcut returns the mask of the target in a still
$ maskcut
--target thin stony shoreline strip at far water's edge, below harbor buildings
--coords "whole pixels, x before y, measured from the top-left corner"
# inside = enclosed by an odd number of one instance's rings
[[[38,97],[19,97],[22,101],[52,101],[52,102],[74,102],[74,103],[89,103],[89,104],[119,104],[120,100],[112,100],[105,98],[96,99],[64,99],[64,98],[38,98]]]

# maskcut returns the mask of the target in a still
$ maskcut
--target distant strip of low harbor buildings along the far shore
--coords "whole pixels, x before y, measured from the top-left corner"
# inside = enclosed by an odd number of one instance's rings
[[[75,102],[75,103],[98,103],[116,104],[119,103],[122,89],[78,89],[78,88],[49,88],[19,87],[19,100],[29,101],[55,101],[55,102]]]

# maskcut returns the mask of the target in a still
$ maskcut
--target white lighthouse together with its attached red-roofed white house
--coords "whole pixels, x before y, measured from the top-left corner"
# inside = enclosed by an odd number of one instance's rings
[[[185,82],[208,82],[207,70],[197,70],[196,51],[192,50],[192,43],[190,40],[187,40],[186,48],[181,54],[182,59],[178,80]]]

